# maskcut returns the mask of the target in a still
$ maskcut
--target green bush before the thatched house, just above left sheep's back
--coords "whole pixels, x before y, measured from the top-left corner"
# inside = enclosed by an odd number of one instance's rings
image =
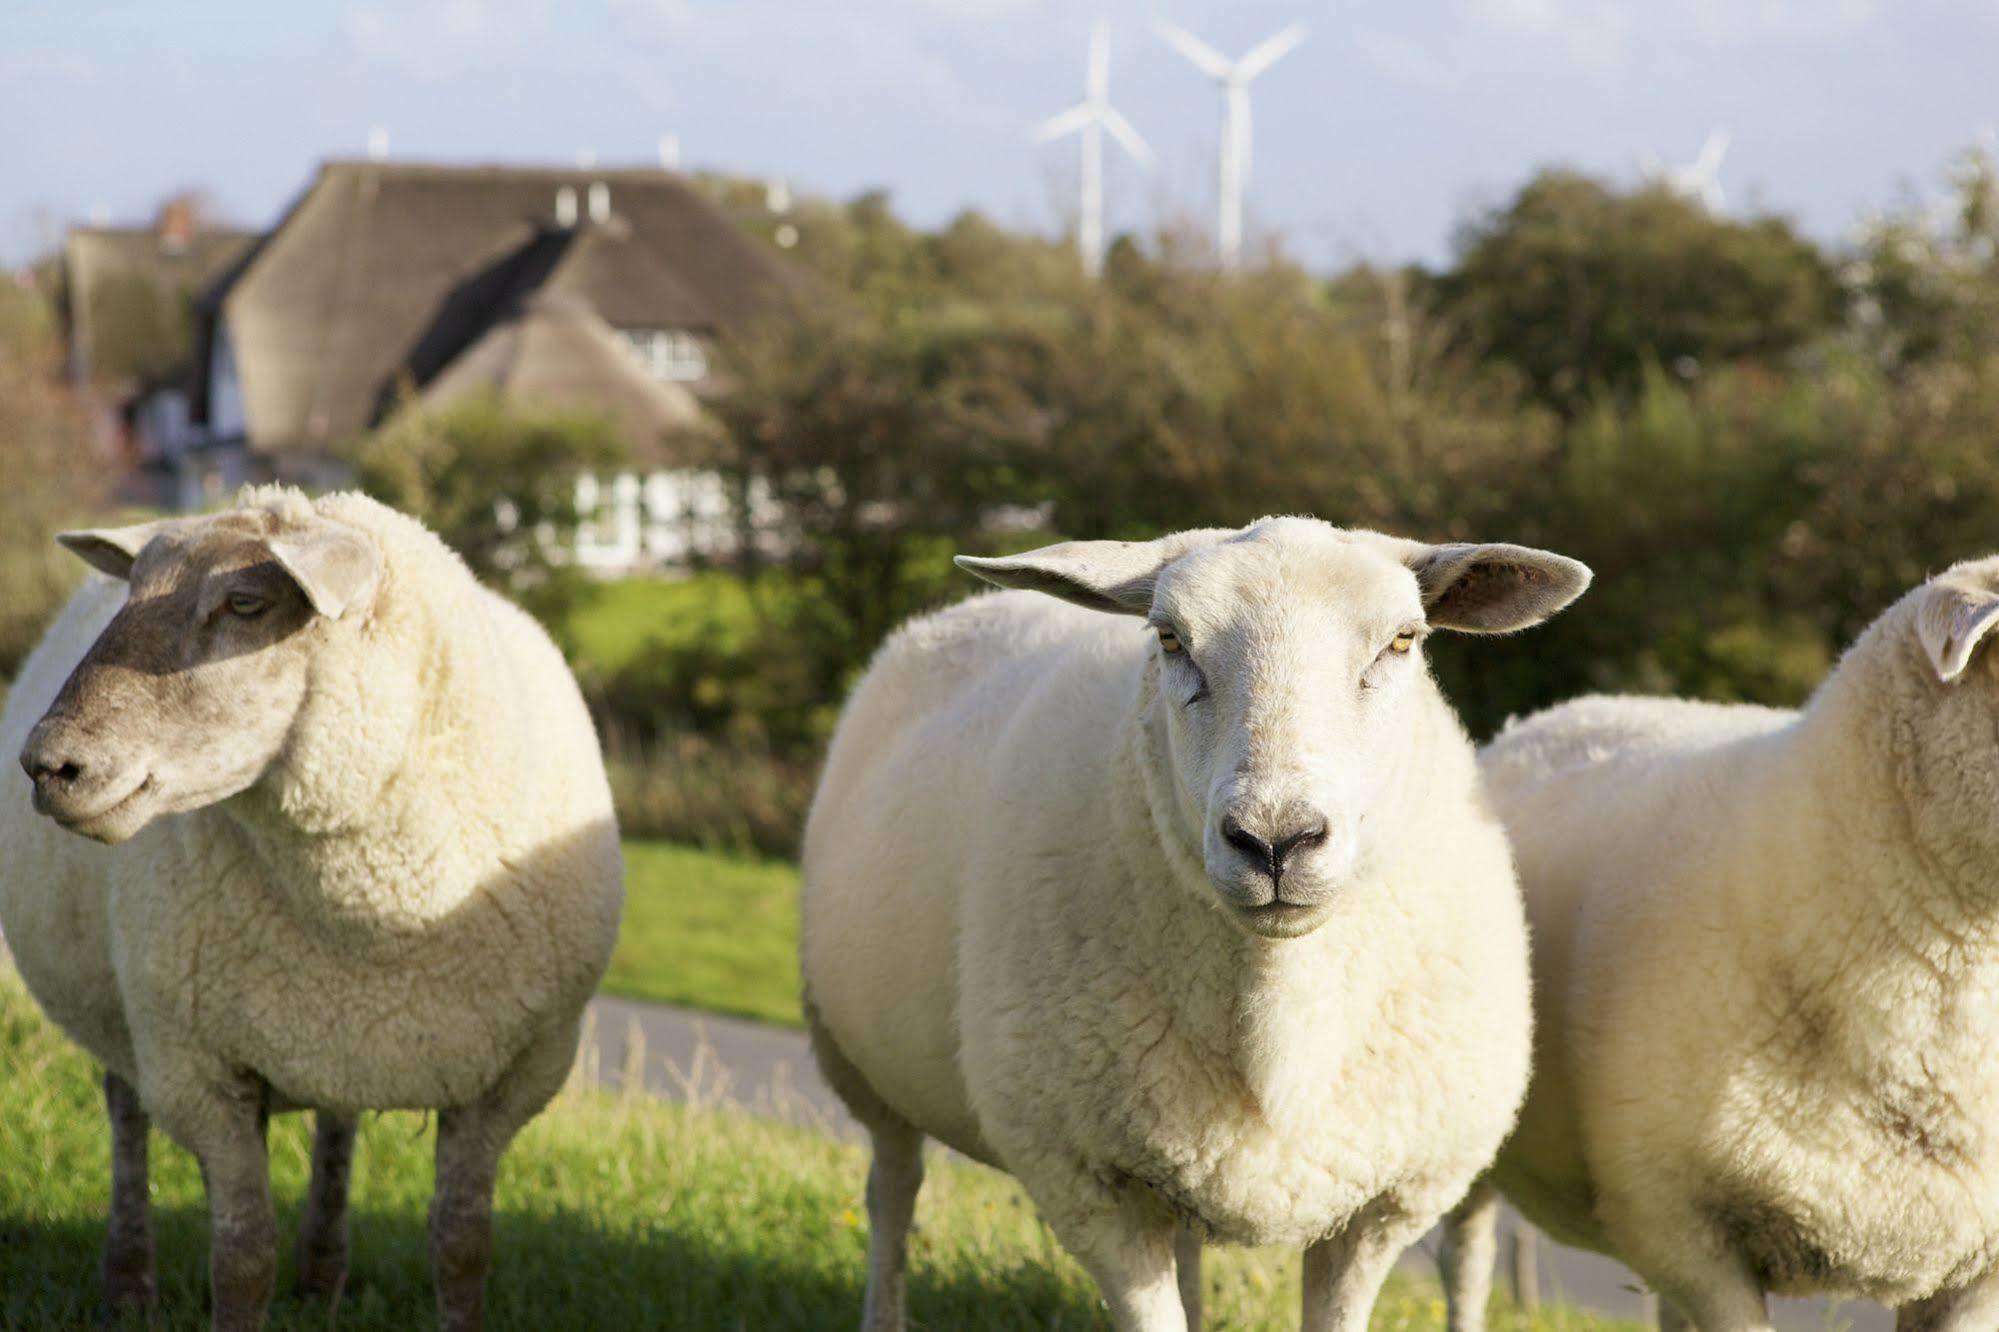
[[[626,458],[602,414],[474,394],[440,410],[406,402],[352,448],[362,490],[422,518],[482,580],[524,592],[574,544],[576,478]]]

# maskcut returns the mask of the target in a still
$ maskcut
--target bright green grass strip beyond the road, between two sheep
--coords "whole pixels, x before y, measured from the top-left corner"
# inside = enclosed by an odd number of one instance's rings
[[[626,842],[612,994],[802,1026],[798,870],[782,860]]]

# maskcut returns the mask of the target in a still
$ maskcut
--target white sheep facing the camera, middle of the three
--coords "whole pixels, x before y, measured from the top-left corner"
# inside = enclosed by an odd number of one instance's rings
[[[1013,590],[882,648],[806,824],[864,1324],[902,1326],[928,1136],[1017,1176],[1119,1328],[1197,1326],[1199,1246],[1239,1242],[1303,1248],[1303,1324],[1357,1332],[1529,1058],[1507,846],[1419,644],[1589,570],[1307,518],[958,562]]]

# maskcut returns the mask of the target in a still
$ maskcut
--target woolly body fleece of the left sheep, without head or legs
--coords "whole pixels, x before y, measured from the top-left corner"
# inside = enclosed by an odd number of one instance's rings
[[[276,1108],[442,1108],[572,1042],[622,866],[596,736],[548,636],[418,522],[248,490],[272,532],[380,554],[284,748],[242,794],[102,846],[30,808],[14,754],[126,600],[92,578],[0,720],[0,922],[36,1000],[176,1136],[218,1070]],[[254,700],[246,700],[246,706]]]

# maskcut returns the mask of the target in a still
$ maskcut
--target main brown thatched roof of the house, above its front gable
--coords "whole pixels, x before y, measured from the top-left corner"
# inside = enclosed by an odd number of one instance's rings
[[[588,220],[594,184],[610,190],[608,222]],[[558,224],[558,190],[574,190],[584,220]],[[672,172],[330,162],[210,288],[204,322],[228,332],[250,446],[326,450],[406,388],[424,392],[496,324],[518,324],[536,292],[572,296],[612,328],[714,336],[800,282]],[[560,342],[530,318],[502,344]]]

